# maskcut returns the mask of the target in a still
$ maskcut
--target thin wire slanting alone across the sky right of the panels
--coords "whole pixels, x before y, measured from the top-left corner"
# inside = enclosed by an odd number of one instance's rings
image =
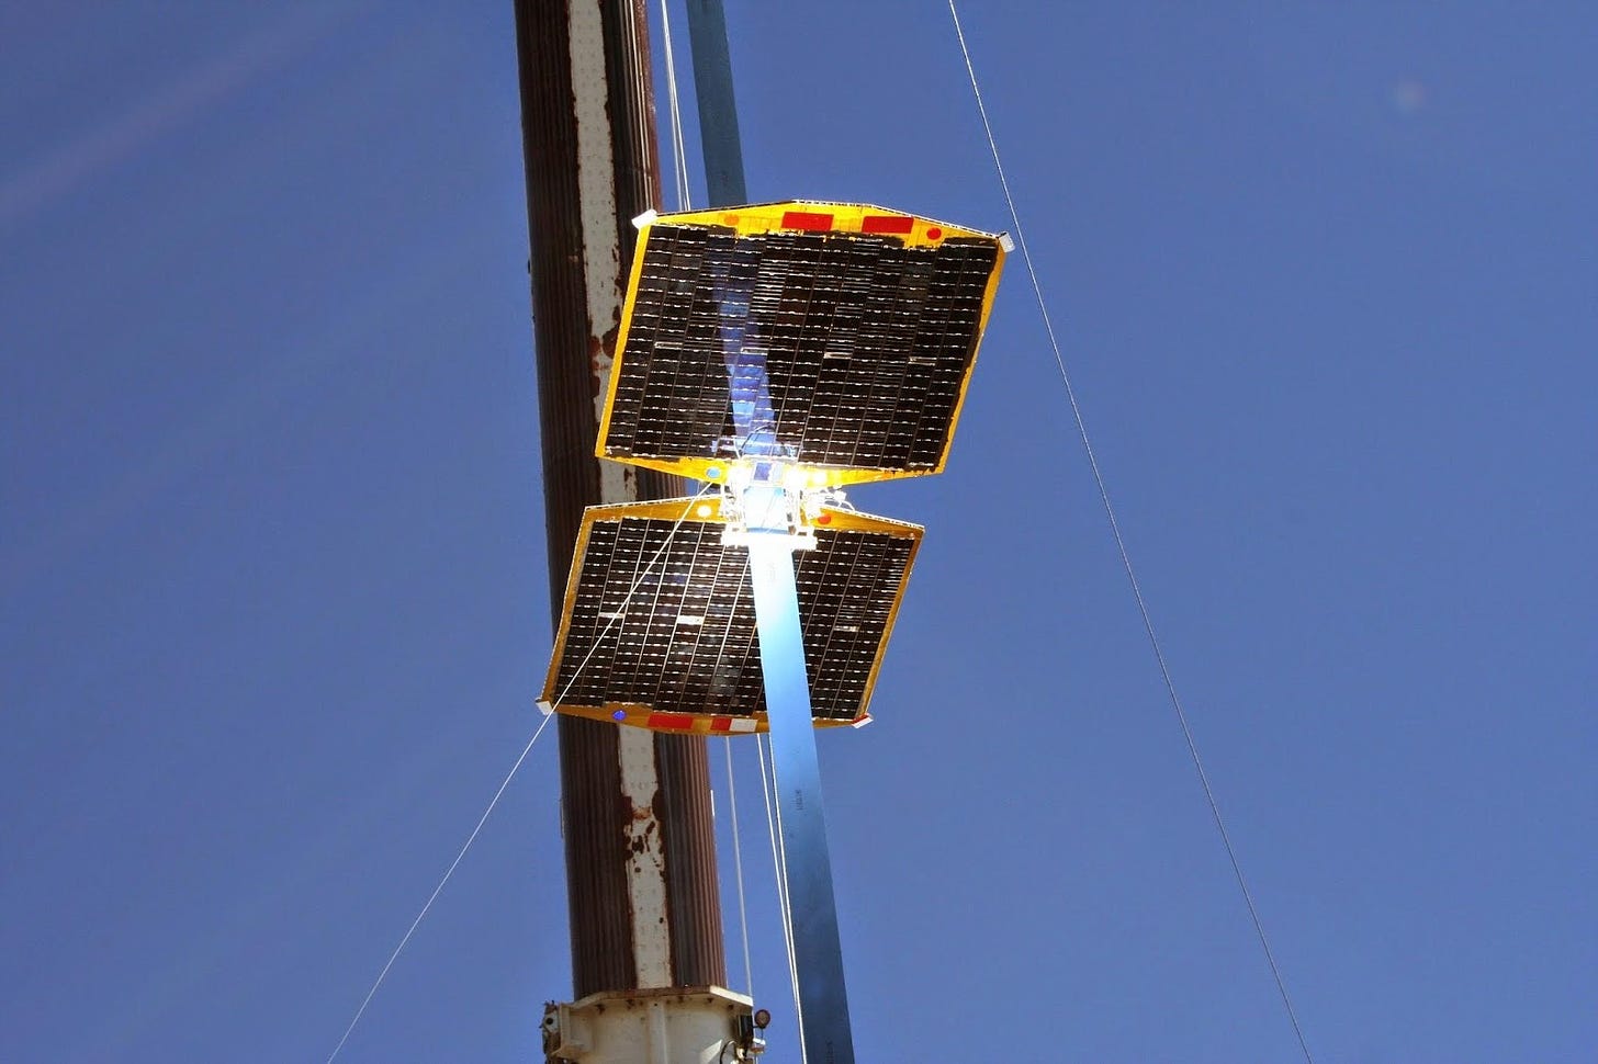
[[[1165,681],[1165,693],[1170,697],[1171,709],[1176,711],[1176,722],[1181,724],[1183,738],[1187,743],[1187,754],[1192,757],[1194,768],[1198,773],[1198,783],[1203,788],[1205,800],[1210,804],[1210,815],[1214,818],[1216,831],[1221,834],[1221,844],[1226,847],[1226,856],[1232,863],[1232,874],[1237,877],[1237,888],[1243,895],[1243,904],[1248,906],[1248,917],[1254,923],[1254,935],[1259,936],[1259,947],[1266,954],[1266,963],[1270,967],[1270,976],[1277,983],[1277,992],[1282,995],[1282,1005],[1286,1008],[1288,1021],[1293,1024],[1293,1034],[1298,1035],[1299,1050],[1304,1051],[1304,1059],[1307,1064],[1314,1064],[1315,1058],[1310,1056],[1309,1042],[1304,1038],[1304,1027],[1299,1024],[1298,1010],[1293,1008],[1293,998],[1288,997],[1286,981],[1282,978],[1282,968],[1277,965],[1275,952],[1270,949],[1270,939],[1266,936],[1266,925],[1259,919],[1259,909],[1254,906],[1254,896],[1248,890],[1248,880],[1243,879],[1243,866],[1237,860],[1237,848],[1232,845],[1232,836],[1226,829],[1226,820],[1221,816],[1221,804],[1214,797],[1214,789],[1210,786],[1210,773],[1203,768],[1203,760],[1198,757],[1198,743],[1194,740],[1192,727],[1187,724],[1187,714],[1183,711],[1183,701],[1176,695],[1176,682],[1171,679],[1171,669],[1165,661],[1165,653],[1160,649],[1160,641],[1154,633],[1154,620],[1149,615],[1149,607],[1143,598],[1143,588],[1138,585],[1138,575],[1131,567],[1131,554],[1127,551],[1127,542],[1120,534],[1120,522],[1115,519],[1115,508],[1109,502],[1109,489],[1104,486],[1104,474],[1099,471],[1098,459],[1093,454],[1093,444],[1088,441],[1087,422],[1082,417],[1082,407],[1077,406],[1075,388],[1071,387],[1071,374],[1066,372],[1066,359],[1059,353],[1059,340],[1055,339],[1055,326],[1048,318],[1048,305],[1043,300],[1043,289],[1037,281],[1037,270],[1032,267],[1032,252],[1026,248],[1026,233],[1021,230],[1021,216],[1015,206],[1015,197],[1010,193],[1010,182],[1004,173],[1004,163],[999,161],[999,142],[994,139],[992,125],[988,121],[988,107],[983,104],[983,91],[976,85],[976,69],[972,66],[972,53],[965,45],[965,30],[960,29],[960,14],[954,10],[954,0],[949,0],[949,16],[954,19],[954,34],[960,40],[960,54],[965,58],[965,72],[972,80],[972,94],[976,97],[976,110],[983,118],[983,133],[988,134],[988,149],[994,157],[994,169],[999,173],[999,185],[1004,189],[1005,206],[1010,208],[1010,222],[1015,225],[1015,238],[1021,248],[1021,260],[1026,264],[1026,275],[1032,281],[1032,294],[1037,297],[1037,308],[1043,316],[1043,331],[1048,334],[1048,345],[1055,351],[1055,366],[1059,369],[1059,380],[1066,387],[1066,398],[1071,401],[1071,415],[1077,422],[1077,435],[1082,438],[1082,449],[1088,455],[1088,466],[1093,470],[1093,482],[1098,486],[1099,502],[1104,503],[1104,516],[1109,519],[1111,534],[1115,537],[1115,550],[1120,553],[1122,569],[1127,570],[1127,582],[1131,583],[1131,594],[1138,601],[1138,613],[1143,617],[1143,629],[1149,637],[1149,645],[1154,649],[1154,660],[1160,666],[1160,677]]]

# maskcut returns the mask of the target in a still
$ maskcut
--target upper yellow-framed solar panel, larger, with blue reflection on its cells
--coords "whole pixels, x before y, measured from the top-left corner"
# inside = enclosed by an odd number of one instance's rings
[[[938,473],[1004,246],[852,204],[646,219],[598,454],[697,479],[751,454],[812,486]],[[735,364],[762,377],[741,409]]]

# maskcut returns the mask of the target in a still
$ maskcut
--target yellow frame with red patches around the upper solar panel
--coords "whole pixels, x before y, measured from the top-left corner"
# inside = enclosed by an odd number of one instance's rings
[[[981,348],[983,334],[988,332],[988,316],[992,313],[994,294],[999,291],[999,275],[1004,273],[1005,252],[1010,249],[1010,238],[997,233],[983,233],[975,228],[965,228],[962,225],[951,225],[948,222],[936,222],[932,219],[919,217],[916,214],[906,214],[903,211],[890,211],[887,208],[871,206],[865,203],[825,203],[818,200],[788,200],[783,203],[756,203],[749,206],[737,208],[718,208],[713,211],[682,211],[678,214],[644,214],[636,219],[638,224],[638,244],[633,251],[633,270],[626,281],[626,300],[622,305],[622,324],[617,332],[615,340],[615,364],[610,367],[610,380],[606,387],[604,399],[604,415],[599,419],[599,439],[594,444],[594,455],[606,459],[607,462],[620,462],[623,465],[638,465],[649,470],[660,470],[662,473],[674,473],[678,476],[687,476],[695,481],[714,481],[725,482],[729,462],[724,459],[612,459],[604,452],[604,441],[610,435],[610,411],[615,406],[617,387],[622,380],[618,372],[622,361],[626,358],[626,335],[633,324],[633,300],[638,296],[638,280],[644,270],[644,249],[649,243],[649,230],[655,225],[718,225],[730,227],[740,236],[749,236],[754,233],[773,233],[783,230],[802,230],[817,232],[817,225],[791,225],[793,216],[810,216],[818,219],[820,216],[829,217],[829,227],[825,232],[834,233],[863,233],[868,227],[868,219],[900,219],[909,225],[908,233],[882,233],[887,236],[896,236],[904,241],[906,248],[936,248],[949,238],[965,238],[965,240],[991,240],[997,257],[994,259],[994,270],[988,276],[988,288],[983,289],[983,313],[981,320],[976,323],[976,348],[972,350],[972,366],[967,369],[965,377],[960,380],[960,395],[954,404],[954,417],[949,422],[949,443],[944,446],[943,454],[938,455],[938,465],[932,470],[857,470],[847,466],[794,466],[789,470],[789,481],[797,486],[804,484],[807,487],[842,487],[845,484],[863,484],[869,481],[892,481],[903,479],[908,476],[932,476],[933,473],[943,473],[944,465],[949,460],[949,447],[954,444],[954,427],[960,422],[960,411],[965,407],[965,390],[972,383],[972,371],[976,367],[976,351]]]

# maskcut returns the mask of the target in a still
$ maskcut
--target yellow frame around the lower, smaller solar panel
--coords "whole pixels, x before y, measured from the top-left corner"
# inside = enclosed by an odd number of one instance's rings
[[[577,548],[572,553],[572,566],[566,578],[566,601],[561,605],[561,631],[555,636],[555,653],[550,655],[550,669],[543,681],[543,695],[540,701],[555,713],[586,717],[590,721],[604,721],[607,724],[626,724],[631,727],[649,729],[652,732],[670,732],[678,735],[753,735],[756,732],[770,730],[764,713],[743,717],[714,713],[655,713],[647,705],[626,701],[609,701],[602,706],[572,706],[561,705],[558,701],[562,693],[558,687],[559,666],[561,658],[566,653],[566,637],[570,629],[572,607],[577,604],[577,588],[582,580],[582,561],[588,553],[588,538],[596,522],[614,521],[618,518],[725,524],[721,513],[721,498],[716,495],[663,498],[658,502],[622,503],[615,506],[588,506],[583,511],[582,529],[577,532]],[[876,658],[871,661],[871,673],[866,676],[865,693],[860,700],[860,711],[852,721],[815,721],[815,727],[818,729],[861,727],[871,721],[871,714],[866,713],[866,706],[871,705],[871,692],[876,690],[877,685],[877,673],[882,668],[882,657],[887,653],[888,639],[893,636],[893,621],[898,620],[904,588],[909,586],[909,574],[916,566],[916,553],[920,550],[924,529],[922,526],[911,524],[909,521],[893,521],[892,518],[879,518],[853,510],[834,510],[831,506],[821,508],[817,527],[829,530],[885,532],[888,535],[900,535],[911,540],[909,558],[904,562],[904,580],[900,583],[898,591],[893,594],[893,602],[888,607],[887,625],[882,628],[882,642],[877,647]]]

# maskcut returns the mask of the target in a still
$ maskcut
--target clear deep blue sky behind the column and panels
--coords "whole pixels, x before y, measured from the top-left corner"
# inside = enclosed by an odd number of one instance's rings
[[[964,16],[1317,1061],[1592,1059],[1598,10]],[[729,21],[754,198],[1010,227],[941,3]],[[0,1061],[332,1050],[539,722],[526,262],[508,0],[0,8]],[[1301,1059],[1018,257],[853,502],[927,526],[821,736],[860,1059]],[[539,1059],[561,860],[540,743],[339,1059]]]

